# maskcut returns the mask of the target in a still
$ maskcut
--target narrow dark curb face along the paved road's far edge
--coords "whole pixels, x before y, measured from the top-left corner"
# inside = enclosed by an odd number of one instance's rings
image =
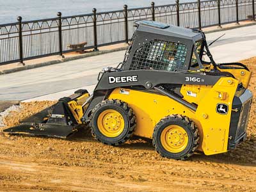
[[[227,28],[214,29],[214,30],[211,30],[211,31],[205,31],[205,33],[214,33],[214,32],[218,32],[218,31],[227,31],[227,30],[230,30],[230,29],[243,28],[243,27],[253,26],[253,25],[256,25],[256,22],[252,22],[252,23],[249,23],[249,24],[230,26],[230,27],[227,27]],[[86,54],[81,54],[81,55],[73,56],[73,57],[70,57],[70,58],[62,58],[60,60],[47,61],[47,62],[44,62],[44,63],[36,63],[36,64],[32,64],[32,65],[25,65],[23,67],[17,67],[17,68],[12,68],[12,69],[8,69],[8,70],[0,71],[0,75],[10,74],[10,73],[13,73],[13,72],[19,72],[19,71],[22,71],[22,70],[28,70],[28,69],[31,69],[31,68],[45,67],[45,66],[48,66],[48,65],[63,63],[65,61],[78,60],[78,59],[81,59],[81,58],[87,58],[87,57],[90,57],[90,56],[97,56],[99,54],[106,54],[106,53],[109,53],[109,52],[124,51],[125,49],[127,49],[127,46],[119,47],[119,48],[111,49],[111,50],[88,52]]]

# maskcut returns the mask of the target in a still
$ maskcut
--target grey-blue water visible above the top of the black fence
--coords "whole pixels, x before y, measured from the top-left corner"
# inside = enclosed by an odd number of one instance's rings
[[[151,0],[152,1],[152,0]],[[56,17],[57,12],[63,16],[97,12],[122,10],[124,4],[128,8],[150,6],[150,0],[0,0],[0,24],[17,22],[17,16],[22,20],[35,20]],[[193,0],[180,0],[180,3]],[[195,0],[194,0],[195,1]],[[173,4],[175,0],[156,0],[155,4]]]

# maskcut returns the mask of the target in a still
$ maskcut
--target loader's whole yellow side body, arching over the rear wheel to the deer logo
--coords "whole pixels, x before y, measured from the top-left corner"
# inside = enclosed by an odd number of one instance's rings
[[[152,138],[155,125],[164,116],[172,114],[188,116],[200,130],[199,149],[206,155],[211,155],[227,151],[232,100],[237,83],[235,79],[222,77],[211,89],[204,92],[204,97],[198,101],[196,112],[169,97],[128,88],[116,88],[109,95],[109,99],[120,99],[129,104],[137,118],[134,134],[146,138]],[[224,92],[225,99],[219,98],[219,93]],[[216,112],[216,107],[220,103],[227,104],[227,114]]]

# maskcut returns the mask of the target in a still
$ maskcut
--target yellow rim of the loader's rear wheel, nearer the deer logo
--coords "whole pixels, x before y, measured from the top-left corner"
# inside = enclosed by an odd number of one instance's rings
[[[161,133],[161,144],[171,153],[182,152],[188,146],[188,134],[179,125],[169,125]]]

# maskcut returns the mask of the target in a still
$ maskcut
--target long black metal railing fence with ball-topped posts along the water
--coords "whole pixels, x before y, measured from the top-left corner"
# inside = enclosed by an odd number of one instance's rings
[[[22,21],[0,25],[0,65],[104,45],[129,42],[136,20],[156,20],[186,28],[221,26],[255,20],[255,0],[214,0],[167,4],[113,12],[94,8],[86,15]]]

